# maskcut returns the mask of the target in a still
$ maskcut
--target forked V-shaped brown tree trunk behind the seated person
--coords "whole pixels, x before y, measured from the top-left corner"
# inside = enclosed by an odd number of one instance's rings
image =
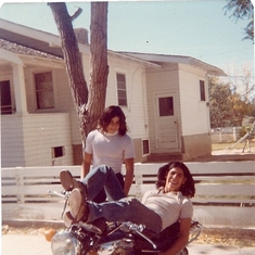
[[[64,55],[69,87],[74,99],[82,145],[88,132],[105,107],[107,85],[107,2],[91,2],[90,33],[90,84],[87,86],[82,61],[72,22],[80,9],[71,16],[64,2],[48,3],[53,13]]]

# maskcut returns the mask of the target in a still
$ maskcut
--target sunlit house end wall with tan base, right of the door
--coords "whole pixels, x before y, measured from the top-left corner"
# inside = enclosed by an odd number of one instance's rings
[[[183,160],[208,155],[212,145],[206,72],[179,64],[179,79]],[[205,101],[200,98],[200,80],[205,81]]]

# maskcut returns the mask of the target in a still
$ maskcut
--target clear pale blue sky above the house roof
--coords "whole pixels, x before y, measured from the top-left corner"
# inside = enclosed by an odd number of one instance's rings
[[[47,1],[14,3],[7,0],[0,18],[58,35]],[[90,3],[66,1],[74,28],[90,26]],[[110,1],[107,46],[131,51],[192,56],[242,79],[250,69],[254,80],[254,44],[243,40],[248,21],[230,17],[227,0]]]

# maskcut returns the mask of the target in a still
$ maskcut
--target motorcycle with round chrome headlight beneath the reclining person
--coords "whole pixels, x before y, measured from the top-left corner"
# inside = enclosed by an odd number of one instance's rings
[[[53,193],[65,199],[68,196]],[[201,230],[202,225],[192,221],[188,243],[197,239]],[[100,218],[90,224],[79,221],[56,232],[51,240],[51,251],[53,255],[156,255],[175,243],[178,232],[179,222],[156,234],[143,225],[106,222]],[[188,254],[188,248],[183,247],[176,255]]]

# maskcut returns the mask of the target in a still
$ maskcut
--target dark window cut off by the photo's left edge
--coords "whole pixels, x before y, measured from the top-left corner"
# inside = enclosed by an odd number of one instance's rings
[[[10,80],[0,81],[1,115],[12,114],[12,99]]]

